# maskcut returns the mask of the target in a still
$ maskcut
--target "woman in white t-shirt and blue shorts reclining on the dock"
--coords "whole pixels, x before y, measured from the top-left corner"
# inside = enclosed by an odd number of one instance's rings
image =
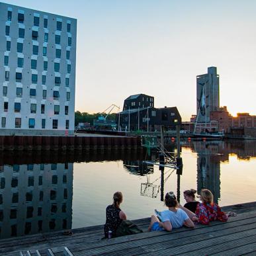
[[[194,223],[189,218],[184,210],[179,208],[178,201],[173,192],[165,194],[165,205],[169,208],[161,212],[161,222],[159,218],[152,215],[149,225],[149,231],[171,231],[173,228],[181,228],[186,226],[188,228],[194,228]]]

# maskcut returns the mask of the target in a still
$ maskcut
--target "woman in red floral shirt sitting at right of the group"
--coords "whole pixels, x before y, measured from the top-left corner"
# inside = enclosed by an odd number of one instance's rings
[[[226,222],[228,216],[222,212],[220,206],[213,201],[213,194],[208,189],[202,189],[200,192],[202,202],[196,208],[196,216],[200,224],[209,225],[214,220]]]

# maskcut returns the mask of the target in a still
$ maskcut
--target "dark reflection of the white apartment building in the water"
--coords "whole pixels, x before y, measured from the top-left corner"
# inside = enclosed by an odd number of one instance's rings
[[[73,163],[0,166],[0,237],[71,228]]]

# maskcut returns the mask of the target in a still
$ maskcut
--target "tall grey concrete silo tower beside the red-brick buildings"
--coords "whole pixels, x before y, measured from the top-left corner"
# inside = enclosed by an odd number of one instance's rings
[[[220,84],[217,67],[196,76],[196,115],[198,122],[210,122],[210,112],[220,108]]]

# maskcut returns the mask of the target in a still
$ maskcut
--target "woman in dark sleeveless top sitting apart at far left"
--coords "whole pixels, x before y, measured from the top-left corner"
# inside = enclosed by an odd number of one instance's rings
[[[126,214],[120,209],[122,202],[122,192],[115,192],[113,196],[114,202],[106,208],[106,224],[104,226],[105,237],[111,231],[111,237],[116,235],[116,230],[120,226],[122,220],[126,220]]]

